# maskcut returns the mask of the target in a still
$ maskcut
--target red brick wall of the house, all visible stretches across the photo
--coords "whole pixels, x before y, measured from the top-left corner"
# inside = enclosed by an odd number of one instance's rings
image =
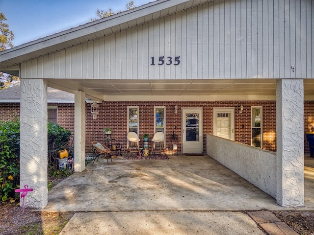
[[[58,107],[58,123],[71,130],[74,136],[74,104],[52,104]],[[178,114],[174,114],[174,107],[178,106]],[[242,114],[239,114],[239,105],[243,105]],[[154,135],[154,106],[166,107],[166,148],[172,149],[170,135],[175,130],[182,140],[181,108],[203,108],[203,151],[206,152],[206,135],[212,134],[212,109],[215,107],[235,108],[235,141],[251,144],[251,106],[262,106],[263,114],[263,149],[276,151],[276,101],[104,101],[99,104],[99,114],[94,120],[91,115],[91,104],[86,104],[86,152],[91,152],[91,142],[104,142],[105,127],[113,129],[116,142],[127,147],[127,112],[128,106],[139,107],[139,136],[143,133]],[[20,116],[19,103],[0,103],[0,120],[7,120]],[[304,102],[304,130],[309,131],[309,124],[314,125],[314,101]],[[308,141],[305,139],[304,151],[309,154]],[[150,141],[150,147],[151,147]],[[140,145],[143,145],[141,140]],[[181,151],[181,143],[178,144]]]

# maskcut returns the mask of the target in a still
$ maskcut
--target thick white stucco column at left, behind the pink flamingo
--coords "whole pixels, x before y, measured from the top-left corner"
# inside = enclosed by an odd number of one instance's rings
[[[47,83],[43,79],[21,79],[20,188],[34,190],[25,206],[42,209],[48,203]],[[23,200],[23,199],[22,199]],[[23,206],[21,200],[21,206]]]

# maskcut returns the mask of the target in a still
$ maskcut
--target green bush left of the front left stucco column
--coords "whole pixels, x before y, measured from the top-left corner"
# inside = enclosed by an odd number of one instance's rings
[[[20,188],[20,121],[0,121],[0,199],[15,199]]]

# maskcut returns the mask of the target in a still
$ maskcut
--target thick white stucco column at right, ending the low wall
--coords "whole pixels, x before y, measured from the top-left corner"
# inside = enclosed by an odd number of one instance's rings
[[[277,204],[304,206],[303,79],[278,79]]]

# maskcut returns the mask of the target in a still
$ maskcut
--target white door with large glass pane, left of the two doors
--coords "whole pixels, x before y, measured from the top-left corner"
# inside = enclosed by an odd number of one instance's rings
[[[203,153],[203,110],[182,110],[182,152]]]

